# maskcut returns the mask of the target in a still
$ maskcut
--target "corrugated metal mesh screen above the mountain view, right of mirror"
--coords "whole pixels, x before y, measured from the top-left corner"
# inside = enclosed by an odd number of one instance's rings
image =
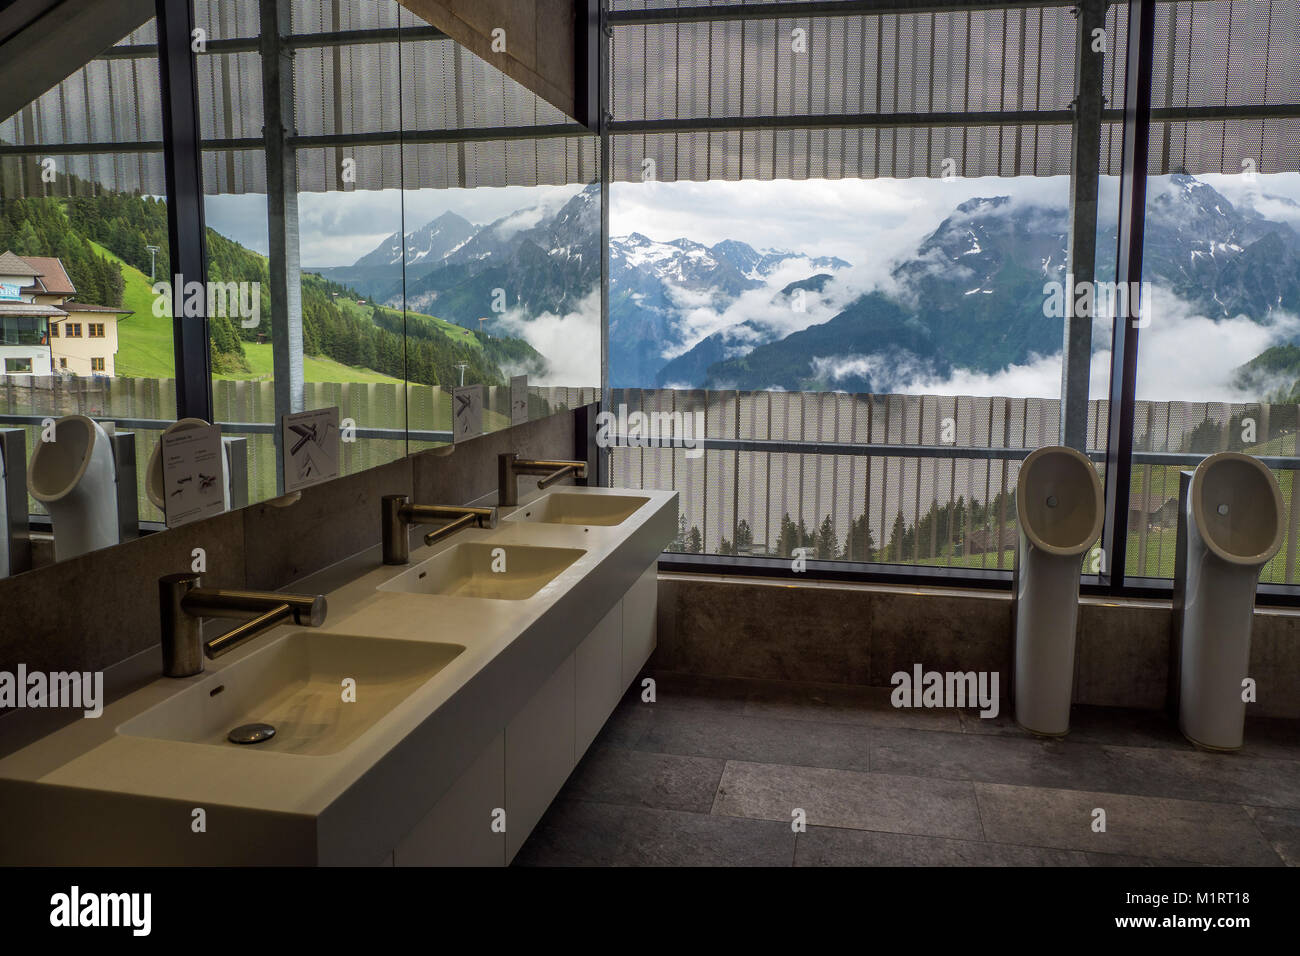
[[[744,7],[614,4],[615,178],[644,178],[646,159],[663,181],[937,176],[945,159],[959,176],[1069,174],[1067,4],[802,16],[792,0],[785,17],[734,18]],[[637,21],[672,9],[697,18]],[[1119,173],[1127,16],[1122,3],[1106,14],[1106,176]],[[1297,44],[1295,0],[1160,4],[1150,170],[1300,169]]]

